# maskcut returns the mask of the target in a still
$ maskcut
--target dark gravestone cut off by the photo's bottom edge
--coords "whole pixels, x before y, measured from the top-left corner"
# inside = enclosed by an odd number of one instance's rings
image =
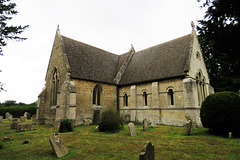
[[[152,145],[151,142],[147,141],[139,155],[139,160],[154,160],[155,155],[154,155],[154,145]]]

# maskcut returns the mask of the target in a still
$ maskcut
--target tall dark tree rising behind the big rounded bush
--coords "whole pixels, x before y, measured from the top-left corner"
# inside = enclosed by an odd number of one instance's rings
[[[240,88],[240,1],[204,0],[202,7],[208,8],[197,30],[212,85],[216,91],[236,92]]]

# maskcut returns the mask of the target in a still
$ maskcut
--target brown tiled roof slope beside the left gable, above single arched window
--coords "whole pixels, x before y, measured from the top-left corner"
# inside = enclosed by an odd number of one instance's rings
[[[71,77],[114,84],[118,56],[62,36]]]

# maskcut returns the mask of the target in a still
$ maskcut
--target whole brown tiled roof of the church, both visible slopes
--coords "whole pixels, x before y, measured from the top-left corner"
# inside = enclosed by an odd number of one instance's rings
[[[71,77],[115,84],[114,78],[127,53],[116,55],[62,36]],[[177,76],[189,69],[192,35],[133,54],[119,85],[128,85]]]

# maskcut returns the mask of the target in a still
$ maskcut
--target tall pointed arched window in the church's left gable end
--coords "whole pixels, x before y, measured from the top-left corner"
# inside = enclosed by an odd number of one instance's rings
[[[55,69],[52,77],[52,105],[53,106],[57,105],[58,87],[59,87],[59,76],[58,76],[57,69]]]

